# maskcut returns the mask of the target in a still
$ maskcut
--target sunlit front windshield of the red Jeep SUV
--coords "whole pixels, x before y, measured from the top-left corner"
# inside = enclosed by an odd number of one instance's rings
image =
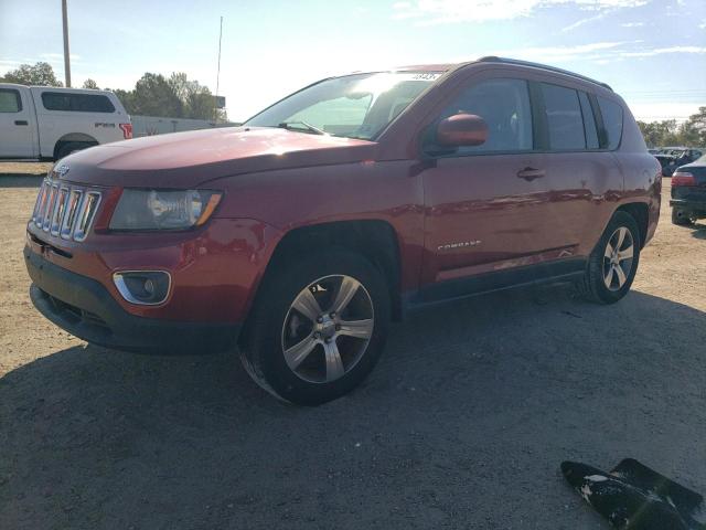
[[[322,81],[276,103],[244,125],[368,140],[440,75],[386,72]]]

